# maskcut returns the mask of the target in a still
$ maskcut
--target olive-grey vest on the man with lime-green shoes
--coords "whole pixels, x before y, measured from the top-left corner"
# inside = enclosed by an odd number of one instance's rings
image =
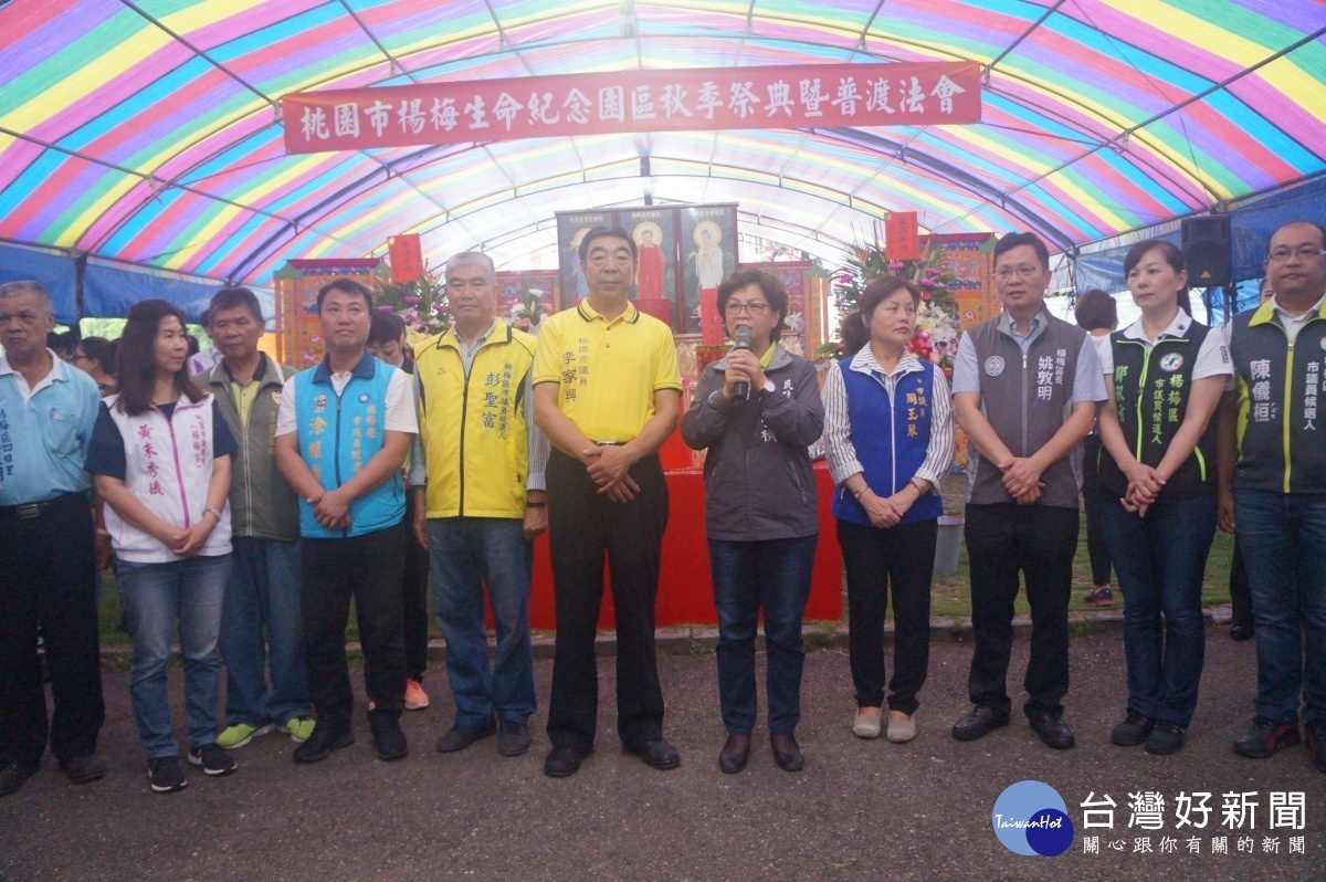
[[[281,390],[296,374],[261,355],[261,383],[249,407],[248,427],[240,424],[239,407],[231,389],[225,362],[199,374],[216,395],[216,405],[239,442],[231,464],[231,528],[236,537],[296,540],[300,537],[300,509],[294,491],[276,468],[276,416],[281,410]]]

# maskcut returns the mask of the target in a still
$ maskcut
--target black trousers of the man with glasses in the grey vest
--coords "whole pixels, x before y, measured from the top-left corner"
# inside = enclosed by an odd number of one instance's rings
[[[965,532],[976,638],[967,680],[972,703],[1009,712],[1005,679],[1021,573],[1032,606],[1032,658],[1022,707],[1028,714],[1062,714],[1061,702],[1069,691],[1069,594],[1078,511],[1017,503],[968,505]]]

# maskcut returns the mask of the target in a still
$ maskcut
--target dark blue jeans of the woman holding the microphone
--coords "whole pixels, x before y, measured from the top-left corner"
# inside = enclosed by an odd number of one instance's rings
[[[801,615],[810,598],[818,536],[757,542],[709,540],[719,611],[719,704],[728,735],[754,728],[754,634],[764,610],[769,735],[792,735],[801,720],[806,653]]]

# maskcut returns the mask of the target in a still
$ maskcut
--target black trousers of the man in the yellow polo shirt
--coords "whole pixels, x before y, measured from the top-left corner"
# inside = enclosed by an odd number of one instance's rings
[[[656,455],[642,459],[630,473],[640,492],[630,503],[614,503],[598,492],[577,460],[556,450],[548,460],[548,537],[557,617],[548,708],[553,747],[587,751],[594,745],[594,634],[603,597],[605,552],[617,614],[617,731],[629,749],[663,737],[654,599],[667,527],[667,484]]]

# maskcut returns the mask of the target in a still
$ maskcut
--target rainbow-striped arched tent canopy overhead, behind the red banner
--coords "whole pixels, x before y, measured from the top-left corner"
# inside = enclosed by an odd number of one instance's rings
[[[648,191],[830,263],[890,211],[1073,252],[1321,176],[1323,34],[1314,0],[0,0],[0,239],[252,285],[404,232],[520,268]],[[298,90],[957,60],[980,125],[282,147]]]

